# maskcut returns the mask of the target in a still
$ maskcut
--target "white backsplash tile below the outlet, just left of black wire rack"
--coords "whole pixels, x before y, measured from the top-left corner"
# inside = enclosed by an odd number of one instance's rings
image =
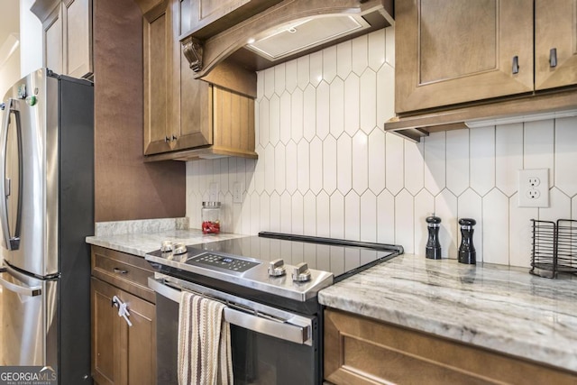
[[[518,194],[518,192],[517,192]],[[536,207],[517,206],[517,194],[509,198],[509,258],[511,266],[530,267],[533,227],[531,219],[536,219],[539,210]]]

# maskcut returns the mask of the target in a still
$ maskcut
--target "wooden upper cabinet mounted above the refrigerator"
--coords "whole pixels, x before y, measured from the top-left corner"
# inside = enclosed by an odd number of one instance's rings
[[[91,78],[92,0],[37,0],[31,10],[42,23],[42,65],[58,74]]]

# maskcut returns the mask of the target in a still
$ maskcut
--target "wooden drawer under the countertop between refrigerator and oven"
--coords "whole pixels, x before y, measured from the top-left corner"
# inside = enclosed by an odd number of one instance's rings
[[[154,291],[148,288],[148,278],[154,269],[142,257],[92,246],[92,275],[117,288],[155,303]]]

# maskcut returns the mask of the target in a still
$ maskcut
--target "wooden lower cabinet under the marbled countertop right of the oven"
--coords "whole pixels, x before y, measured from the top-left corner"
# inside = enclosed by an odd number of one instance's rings
[[[334,309],[325,310],[333,384],[575,384],[577,373]]]

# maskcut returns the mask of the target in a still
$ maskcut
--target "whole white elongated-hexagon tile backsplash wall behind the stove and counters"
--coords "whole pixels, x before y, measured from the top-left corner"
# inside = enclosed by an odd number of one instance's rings
[[[477,220],[478,261],[529,266],[531,218],[577,218],[577,118],[433,133],[383,132],[394,109],[394,30],[372,32],[258,74],[259,160],[187,163],[187,215],[199,228],[219,183],[223,229],[398,243],[424,253],[442,220],[456,258],[458,218]],[[550,169],[551,206],[517,207],[517,170]],[[233,204],[234,182],[243,204]]]

